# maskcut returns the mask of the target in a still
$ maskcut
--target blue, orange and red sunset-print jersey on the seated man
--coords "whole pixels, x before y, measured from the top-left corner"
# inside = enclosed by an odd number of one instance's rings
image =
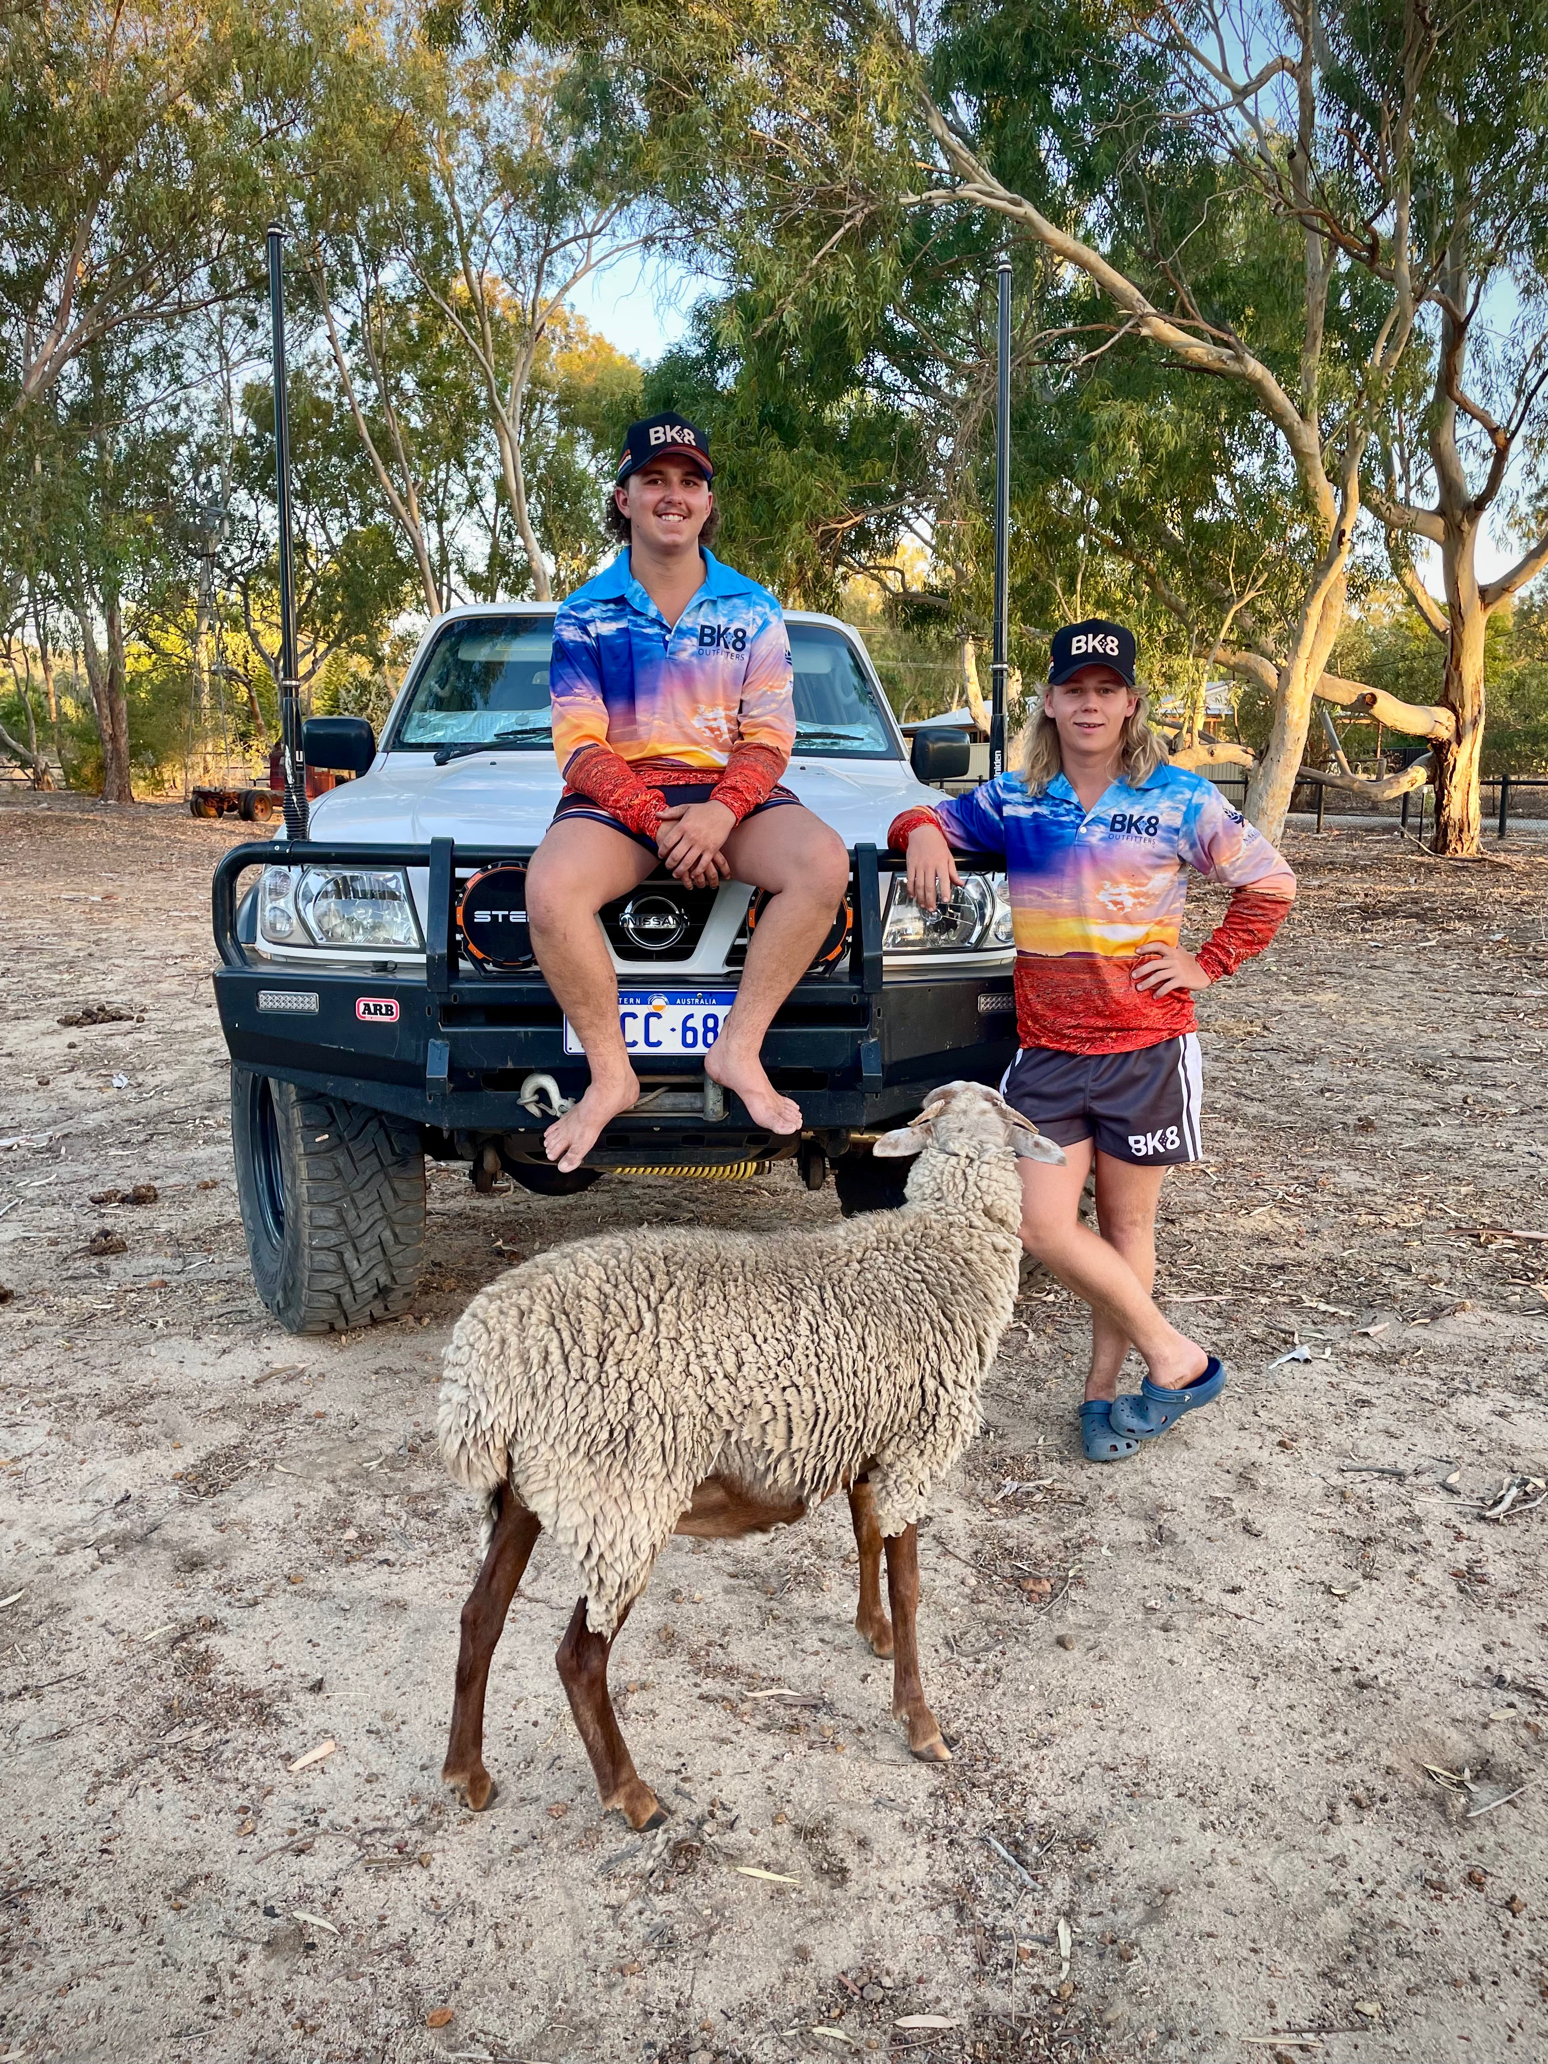
[[[665,788],[714,780],[741,821],[795,745],[780,605],[704,551],[704,584],[669,625],[627,547],[553,619],[553,751],[570,793],[654,836]]]

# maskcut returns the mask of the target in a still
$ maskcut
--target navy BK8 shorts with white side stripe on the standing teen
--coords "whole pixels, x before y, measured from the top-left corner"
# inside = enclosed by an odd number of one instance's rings
[[[1199,1160],[1203,1071],[1199,1034],[1137,1053],[1024,1046],[999,1086],[1007,1104],[1061,1148],[1094,1139],[1098,1154],[1137,1168]]]

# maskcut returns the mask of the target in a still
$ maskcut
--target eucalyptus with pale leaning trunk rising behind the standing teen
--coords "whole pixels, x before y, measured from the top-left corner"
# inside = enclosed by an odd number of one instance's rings
[[[786,334],[817,314],[865,328],[929,241],[918,219],[945,235],[976,219],[1086,289],[1088,353],[1139,349],[1240,398],[1216,471],[1278,489],[1298,557],[1273,636],[1222,648],[1271,700],[1251,805],[1278,830],[1313,698],[1360,694],[1327,663],[1364,466],[1455,227],[1416,180],[1461,0],[522,12],[634,66],[679,206],[764,283]],[[968,400],[972,376],[956,388]],[[1230,601],[1232,627],[1263,623],[1261,596]]]

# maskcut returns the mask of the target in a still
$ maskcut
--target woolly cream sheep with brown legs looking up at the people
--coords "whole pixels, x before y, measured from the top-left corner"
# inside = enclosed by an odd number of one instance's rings
[[[462,1608],[442,1777],[475,1810],[493,1794],[489,1662],[543,1529],[580,1573],[555,1659],[603,1806],[646,1829],[667,1816],[623,1744],[607,1659],[656,1556],[673,1534],[788,1525],[840,1486],[861,1552],[854,1624],[894,1655],[912,1752],[949,1761],[918,1678],[914,1521],[978,1430],[1015,1302],[1015,1156],[1063,1154],[968,1082],[875,1152],[918,1156],[896,1212],[774,1236],[578,1240],[499,1276],[458,1319],[438,1430],[452,1474],[485,1498],[485,1560]]]

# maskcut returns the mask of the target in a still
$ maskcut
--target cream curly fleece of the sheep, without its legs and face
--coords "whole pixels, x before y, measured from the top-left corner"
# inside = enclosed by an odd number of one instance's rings
[[[1020,1265],[1009,1156],[925,1162],[898,1212],[609,1234],[495,1278],[446,1350],[438,1420],[485,1542],[510,1482],[611,1635],[710,1474],[815,1503],[869,1463],[881,1531],[902,1534],[978,1430]],[[1003,1193],[989,1214],[985,1189]]]

